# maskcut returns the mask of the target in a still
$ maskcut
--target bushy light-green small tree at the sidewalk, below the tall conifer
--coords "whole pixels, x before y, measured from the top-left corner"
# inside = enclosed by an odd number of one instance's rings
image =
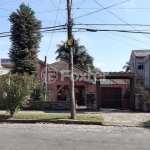
[[[39,81],[28,74],[0,76],[0,101],[11,116],[30,100],[33,88]]]

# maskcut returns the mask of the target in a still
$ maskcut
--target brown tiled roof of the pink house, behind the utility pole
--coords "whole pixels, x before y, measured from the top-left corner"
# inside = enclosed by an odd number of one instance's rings
[[[66,70],[65,74],[68,74],[67,71],[69,70],[69,63],[65,60],[59,60],[59,61],[54,62],[49,65],[60,72],[65,72],[65,70]],[[74,73],[77,73],[77,74],[87,73],[88,75],[91,75],[90,73],[86,72],[85,70],[83,70],[75,65],[73,66],[73,71],[74,71]]]

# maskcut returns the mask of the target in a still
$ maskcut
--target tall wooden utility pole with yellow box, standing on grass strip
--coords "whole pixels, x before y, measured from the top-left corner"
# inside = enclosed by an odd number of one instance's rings
[[[74,95],[74,75],[73,75],[73,36],[72,36],[72,25],[73,19],[71,16],[71,6],[72,0],[67,0],[67,11],[68,11],[68,49],[69,49],[69,75],[70,75],[70,84],[69,84],[69,95],[71,102],[71,119],[76,118],[76,107],[75,107],[75,95]]]

